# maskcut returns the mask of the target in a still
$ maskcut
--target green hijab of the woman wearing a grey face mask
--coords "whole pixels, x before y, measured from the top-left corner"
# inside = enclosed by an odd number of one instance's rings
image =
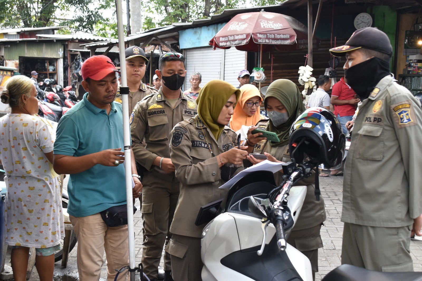
[[[292,124],[295,122],[298,115],[305,111],[305,105],[302,102],[302,94],[300,93],[298,86],[292,81],[278,79],[268,86],[264,99],[265,108],[267,108],[267,99],[269,97],[275,97],[279,100],[289,114],[289,119],[286,123],[276,127],[270,119],[266,128],[267,131],[275,132],[280,140],[279,143],[270,141],[271,146],[284,146],[289,143],[290,127],[292,127]]]

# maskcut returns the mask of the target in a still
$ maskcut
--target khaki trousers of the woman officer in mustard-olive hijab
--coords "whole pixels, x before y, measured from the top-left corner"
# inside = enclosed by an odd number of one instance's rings
[[[174,281],[202,280],[201,238],[173,234],[165,251],[170,253]]]

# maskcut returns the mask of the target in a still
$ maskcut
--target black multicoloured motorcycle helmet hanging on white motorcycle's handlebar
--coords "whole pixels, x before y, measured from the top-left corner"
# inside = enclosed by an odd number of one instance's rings
[[[290,157],[315,166],[335,169],[344,156],[345,135],[335,115],[322,107],[311,107],[298,116],[290,130]],[[308,158],[308,159],[307,159]]]

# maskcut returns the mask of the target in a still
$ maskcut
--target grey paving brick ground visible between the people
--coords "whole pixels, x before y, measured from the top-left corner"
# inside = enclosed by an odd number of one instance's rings
[[[319,249],[319,273],[315,276],[316,280],[321,280],[329,271],[341,264],[340,255],[343,233],[343,223],[340,221],[343,197],[343,176],[320,177],[320,185],[322,196],[325,200],[327,220],[325,221],[325,226],[321,229],[324,248]],[[135,206],[139,210],[139,200],[136,201]],[[422,271],[422,241],[412,240],[410,248],[411,256],[414,261],[414,269],[416,271]],[[135,252],[136,262],[139,263],[141,262],[142,257],[142,219],[139,211],[135,213]],[[104,256],[104,261],[105,260]],[[8,261],[10,262],[10,254],[8,256]],[[160,265],[163,265],[162,259]],[[54,270],[54,280],[56,281],[78,280],[76,248],[70,253],[68,267],[62,268],[60,262],[57,262]],[[101,280],[106,280],[106,270],[106,265],[104,264],[101,272]],[[35,268],[30,280],[39,280]]]

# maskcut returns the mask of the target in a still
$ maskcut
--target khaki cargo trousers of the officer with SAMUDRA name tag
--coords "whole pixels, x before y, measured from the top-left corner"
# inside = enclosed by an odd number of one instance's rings
[[[172,181],[165,181],[155,173],[146,172],[142,184],[144,241],[141,261],[143,272],[148,278],[154,279],[157,278],[163,246],[171,238],[169,229],[179,200],[180,183],[176,182],[175,177]],[[171,270],[167,253],[164,254],[164,270]]]

